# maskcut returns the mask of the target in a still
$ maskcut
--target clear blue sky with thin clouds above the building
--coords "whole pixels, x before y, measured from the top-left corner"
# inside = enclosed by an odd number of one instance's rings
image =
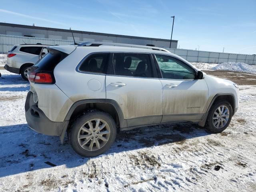
[[[172,39],[256,54],[256,0],[1,0],[0,22]]]

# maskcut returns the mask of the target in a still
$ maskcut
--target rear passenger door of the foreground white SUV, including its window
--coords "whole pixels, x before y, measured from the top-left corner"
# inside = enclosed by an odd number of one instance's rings
[[[106,98],[116,101],[127,125],[160,123],[162,84],[151,54],[114,53],[114,74],[106,75]]]

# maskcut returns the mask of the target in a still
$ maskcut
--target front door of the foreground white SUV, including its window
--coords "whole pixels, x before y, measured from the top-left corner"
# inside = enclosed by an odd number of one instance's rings
[[[208,101],[205,80],[196,79],[196,71],[178,58],[155,56],[162,74],[162,122],[200,120]]]

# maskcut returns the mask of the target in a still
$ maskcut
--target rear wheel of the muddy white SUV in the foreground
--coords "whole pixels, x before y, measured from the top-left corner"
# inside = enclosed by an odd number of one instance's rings
[[[97,110],[78,117],[70,127],[70,144],[81,156],[94,157],[106,152],[116,138],[113,118]]]

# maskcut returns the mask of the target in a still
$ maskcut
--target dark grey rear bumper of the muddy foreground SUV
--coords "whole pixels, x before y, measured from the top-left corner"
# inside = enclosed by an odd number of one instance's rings
[[[28,126],[38,133],[64,138],[64,132],[69,121],[53,122],[49,120],[44,112],[38,108],[33,101],[33,93],[28,92],[25,103],[25,116]],[[63,141],[63,140],[62,140]]]

